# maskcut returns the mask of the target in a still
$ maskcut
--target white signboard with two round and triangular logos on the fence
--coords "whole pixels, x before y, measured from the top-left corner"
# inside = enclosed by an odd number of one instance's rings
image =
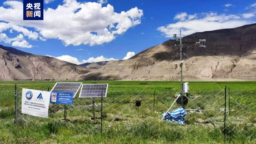
[[[21,113],[48,118],[51,92],[22,89]]]

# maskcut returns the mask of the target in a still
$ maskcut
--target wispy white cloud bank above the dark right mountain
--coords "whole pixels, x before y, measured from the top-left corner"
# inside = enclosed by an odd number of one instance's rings
[[[219,15],[218,13],[209,12],[197,14],[197,18],[193,20],[189,20],[184,15],[184,17],[180,17],[180,21],[160,26],[157,30],[165,37],[173,37],[173,34],[178,34],[180,30],[182,30],[182,35],[190,35],[202,31],[236,28],[252,23],[255,23],[255,21],[241,18],[239,15]]]

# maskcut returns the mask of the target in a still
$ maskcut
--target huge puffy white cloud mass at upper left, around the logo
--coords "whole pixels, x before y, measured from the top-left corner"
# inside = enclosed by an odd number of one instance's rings
[[[143,10],[137,7],[116,13],[110,4],[102,7],[96,2],[64,0],[56,9],[46,9],[44,20],[23,20],[23,13],[20,13],[23,11],[22,2],[6,1],[4,6],[7,8],[0,7],[0,20],[9,22],[10,26],[7,28],[22,32],[30,39],[59,39],[66,46],[92,46],[113,41],[117,35],[140,24],[143,16]],[[22,26],[35,28],[40,35]]]

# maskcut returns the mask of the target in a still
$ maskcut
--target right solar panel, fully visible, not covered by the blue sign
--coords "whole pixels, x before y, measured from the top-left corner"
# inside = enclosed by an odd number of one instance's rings
[[[107,96],[108,84],[87,84],[82,85],[79,98],[100,98]]]

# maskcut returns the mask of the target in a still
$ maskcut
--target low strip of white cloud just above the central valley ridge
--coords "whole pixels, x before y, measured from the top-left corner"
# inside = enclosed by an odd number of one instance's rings
[[[54,57],[52,55],[46,55],[48,57]],[[100,57],[90,57],[89,59],[87,60],[82,60],[82,61],[78,61],[78,59],[76,57],[72,57],[70,55],[62,55],[62,56],[59,56],[59,57],[55,57],[56,59],[59,59],[59,60],[62,60],[62,61],[67,61],[69,63],[74,63],[76,65],[81,65],[83,63],[96,63],[96,62],[100,62],[100,61],[116,61],[118,59],[114,59],[114,58],[107,58],[107,57],[104,57],[103,55],[101,55]]]

